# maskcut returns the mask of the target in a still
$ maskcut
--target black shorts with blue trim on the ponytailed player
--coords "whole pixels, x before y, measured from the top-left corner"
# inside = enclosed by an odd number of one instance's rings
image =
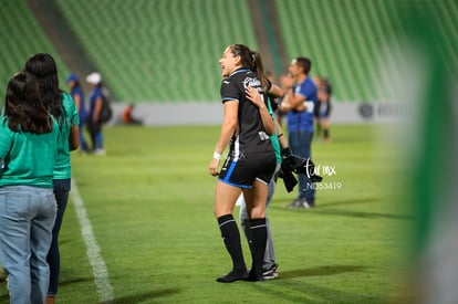
[[[277,159],[273,151],[244,153],[238,159],[235,159],[230,153],[218,180],[239,188],[251,188],[257,179],[268,185],[275,166]]]

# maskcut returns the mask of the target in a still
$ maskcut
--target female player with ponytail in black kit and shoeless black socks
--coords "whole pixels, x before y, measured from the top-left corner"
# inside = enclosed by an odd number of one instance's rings
[[[273,120],[262,101],[267,98],[267,78],[261,54],[243,44],[226,48],[219,64],[223,77],[220,86],[223,122],[209,172],[218,176],[215,216],[232,260],[232,270],[217,281],[261,281],[267,242],[266,200],[268,185],[277,166],[269,140],[269,135],[274,132]],[[219,171],[221,155],[228,145],[229,153]],[[236,201],[242,192],[250,221],[250,272],[247,271],[240,232],[232,216]]]

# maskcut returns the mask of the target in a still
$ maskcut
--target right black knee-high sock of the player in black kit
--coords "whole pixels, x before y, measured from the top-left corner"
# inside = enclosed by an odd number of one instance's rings
[[[250,250],[252,258],[251,280],[262,280],[262,264],[264,262],[266,243],[267,243],[267,224],[266,218],[250,220]]]

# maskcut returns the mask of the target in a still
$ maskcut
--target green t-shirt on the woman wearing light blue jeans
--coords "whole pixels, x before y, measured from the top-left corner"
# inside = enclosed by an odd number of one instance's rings
[[[0,186],[35,186],[53,188],[59,126],[52,132],[31,134],[12,132],[8,118],[0,116],[0,158],[8,169],[0,174]]]

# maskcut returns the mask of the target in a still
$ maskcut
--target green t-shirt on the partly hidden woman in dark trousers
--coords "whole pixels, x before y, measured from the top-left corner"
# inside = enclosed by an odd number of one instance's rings
[[[58,156],[54,165],[54,179],[66,179],[72,176],[70,163],[70,129],[80,125],[76,105],[67,93],[62,94],[62,114],[59,118]]]

